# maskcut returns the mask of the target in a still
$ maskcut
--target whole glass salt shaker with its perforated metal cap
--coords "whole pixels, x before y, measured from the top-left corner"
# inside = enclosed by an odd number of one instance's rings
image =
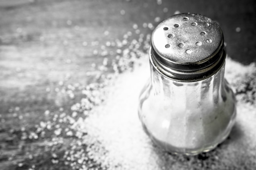
[[[173,15],[152,33],[150,80],[139,97],[139,119],[168,152],[197,155],[224,141],[236,117],[236,99],[224,78],[220,26],[193,13]]]

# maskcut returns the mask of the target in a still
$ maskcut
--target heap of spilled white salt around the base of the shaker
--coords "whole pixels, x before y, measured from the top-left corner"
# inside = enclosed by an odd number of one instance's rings
[[[188,157],[159,150],[142,129],[137,106],[141,88],[150,74],[147,58],[145,55],[137,61],[134,71],[119,75],[109,84],[105,102],[95,107],[92,114],[81,122],[83,130],[88,133],[83,143],[90,146],[90,157],[111,170],[256,167],[256,84],[251,84],[249,89],[245,85],[250,84],[248,81],[256,81],[255,64],[244,66],[230,58],[226,59],[225,77],[234,92],[239,92],[236,95],[236,124],[229,139],[215,150]]]

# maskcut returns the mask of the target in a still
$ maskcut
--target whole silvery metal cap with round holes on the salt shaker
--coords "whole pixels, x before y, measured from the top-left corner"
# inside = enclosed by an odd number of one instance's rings
[[[181,82],[206,79],[225,62],[220,26],[205,16],[181,13],[152,33],[150,62],[162,75]]]

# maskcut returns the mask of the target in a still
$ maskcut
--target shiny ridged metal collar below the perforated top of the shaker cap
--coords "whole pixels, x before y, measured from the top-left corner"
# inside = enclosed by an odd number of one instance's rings
[[[150,63],[153,65],[153,67],[164,77],[179,82],[196,82],[211,77],[212,75],[217,73],[217,71],[219,71],[225,63],[226,51],[222,48],[222,50],[219,51],[218,56],[219,57],[216,62],[211,62],[210,65],[207,65],[203,68],[198,68],[194,70],[191,70],[189,68],[178,69],[166,66],[162,62],[159,62],[159,60],[157,60],[156,56],[153,53],[152,47],[150,47],[149,49]]]

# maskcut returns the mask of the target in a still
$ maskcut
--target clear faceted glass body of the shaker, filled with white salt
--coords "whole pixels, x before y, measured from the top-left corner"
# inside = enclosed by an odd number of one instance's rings
[[[150,79],[139,96],[139,119],[157,146],[197,155],[227,138],[236,117],[234,93],[224,78],[225,63],[211,77],[178,82],[150,63]]]

